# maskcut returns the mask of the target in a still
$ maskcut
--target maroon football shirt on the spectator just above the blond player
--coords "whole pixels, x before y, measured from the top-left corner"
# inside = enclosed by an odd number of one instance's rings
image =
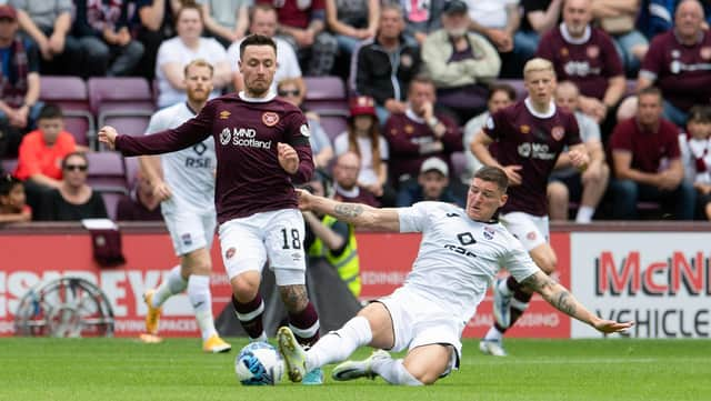
[[[588,40],[574,43],[563,36],[563,30],[561,23],[545,33],[537,56],[553,63],[558,81],[575,82],[580,93],[602,100],[608,80],[624,73],[612,39],[604,31],[591,28]]]

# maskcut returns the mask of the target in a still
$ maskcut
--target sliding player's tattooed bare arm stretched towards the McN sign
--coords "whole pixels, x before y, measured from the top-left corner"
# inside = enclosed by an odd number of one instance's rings
[[[617,333],[624,331],[634,324],[634,322],[620,323],[597,317],[578,302],[578,300],[563,285],[553,281],[553,279],[542,271],[538,271],[521,281],[521,284],[540,293],[548,303],[555,307],[559,311],[571,318],[575,318],[583,323],[592,325],[602,333]]]

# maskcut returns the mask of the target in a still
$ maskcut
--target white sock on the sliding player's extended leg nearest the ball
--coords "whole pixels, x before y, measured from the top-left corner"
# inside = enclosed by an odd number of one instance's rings
[[[365,318],[349,320],[341,330],[323,335],[307,351],[307,372],[346,360],[356,349],[369,344],[372,339],[373,333]]]

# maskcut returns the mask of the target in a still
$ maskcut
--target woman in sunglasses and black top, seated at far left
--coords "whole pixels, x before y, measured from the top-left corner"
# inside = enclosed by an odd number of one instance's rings
[[[62,183],[42,198],[37,220],[79,221],[106,219],[107,207],[99,192],[87,184],[89,160],[81,152],[67,154],[62,160]]]

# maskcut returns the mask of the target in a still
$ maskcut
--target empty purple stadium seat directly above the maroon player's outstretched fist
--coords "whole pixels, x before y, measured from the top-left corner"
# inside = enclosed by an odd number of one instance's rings
[[[139,77],[93,77],[88,83],[89,103],[98,126],[112,126],[120,133],[140,136],[156,110],[148,81]]]

